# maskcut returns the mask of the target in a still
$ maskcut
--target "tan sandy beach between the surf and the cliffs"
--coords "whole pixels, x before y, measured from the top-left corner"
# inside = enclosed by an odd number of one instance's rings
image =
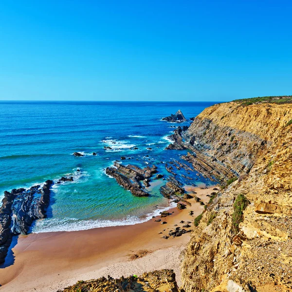
[[[190,194],[197,192],[201,201],[208,202],[208,189],[185,186]],[[182,227],[183,221],[193,221],[203,211],[195,199],[187,200],[192,206],[184,210],[170,209],[173,214],[162,218],[167,224],[155,222],[160,216],[147,222],[117,227],[104,227],[72,232],[51,232],[19,236],[12,249],[13,265],[0,269],[0,291],[48,292],[57,291],[78,280],[101,276],[112,277],[142,274],[158,269],[173,269],[180,284],[181,253],[190,239],[190,233],[181,237],[162,238],[174,230],[174,224]],[[194,211],[190,216],[189,211]],[[190,228],[194,229],[193,223]],[[165,231],[163,231],[165,229]],[[159,234],[163,232],[163,234]],[[130,260],[140,250],[149,253]]]

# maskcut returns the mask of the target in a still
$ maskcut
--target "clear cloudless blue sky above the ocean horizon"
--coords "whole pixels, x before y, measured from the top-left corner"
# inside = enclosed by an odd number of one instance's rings
[[[290,0],[3,0],[1,100],[292,94]]]

